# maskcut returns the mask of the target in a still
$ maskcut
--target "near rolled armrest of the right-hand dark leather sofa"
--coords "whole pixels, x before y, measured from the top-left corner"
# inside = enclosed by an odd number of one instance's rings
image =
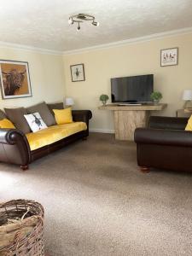
[[[192,131],[137,128],[136,143],[192,147]]]

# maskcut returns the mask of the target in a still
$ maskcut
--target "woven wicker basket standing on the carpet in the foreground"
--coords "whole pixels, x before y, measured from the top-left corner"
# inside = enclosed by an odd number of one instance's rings
[[[44,256],[44,208],[36,201],[0,204],[0,256]]]

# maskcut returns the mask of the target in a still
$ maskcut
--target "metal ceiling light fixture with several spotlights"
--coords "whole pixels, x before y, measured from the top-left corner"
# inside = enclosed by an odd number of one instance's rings
[[[77,31],[80,30],[80,22],[84,21],[92,21],[91,24],[93,26],[99,26],[99,22],[95,21],[95,17],[93,15],[85,15],[85,14],[79,14],[79,15],[72,15],[68,19],[68,23],[70,25],[73,25],[75,22],[78,23]]]

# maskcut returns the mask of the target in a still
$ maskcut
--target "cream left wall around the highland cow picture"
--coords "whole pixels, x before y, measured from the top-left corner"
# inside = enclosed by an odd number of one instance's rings
[[[0,108],[27,107],[38,102],[61,102],[64,97],[62,55],[39,53],[33,50],[0,48],[0,59],[28,61],[32,97],[0,99]]]

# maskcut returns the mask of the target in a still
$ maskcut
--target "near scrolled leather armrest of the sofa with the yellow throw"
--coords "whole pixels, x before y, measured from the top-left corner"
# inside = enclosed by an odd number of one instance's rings
[[[31,151],[25,134],[17,129],[0,129],[0,161],[27,166]]]

